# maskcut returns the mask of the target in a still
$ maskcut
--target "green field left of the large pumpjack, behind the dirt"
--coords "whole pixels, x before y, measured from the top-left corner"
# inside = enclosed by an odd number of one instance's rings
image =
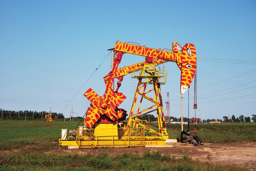
[[[0,150],[22,148],[35,142],[58,141],[61,129],[75,129],[79,122],[0,121]],[[80,123],[83,125],[83,122]],[[39,140],[38,140],[39,139]]]

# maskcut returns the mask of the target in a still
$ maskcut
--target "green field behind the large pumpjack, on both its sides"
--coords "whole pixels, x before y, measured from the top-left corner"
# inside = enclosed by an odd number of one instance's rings
[[[73,130],[79,122],[0,121],[0,150],[22,148],[35,142],[58,141],[61,129]],[[83,122],[79,126],[83,126]],[[187,130],[187,125],[183,125]],[[190,125],[190,130],[194,125]],[[198,124],[201,140],[209,143],[256,141],[256,123]],[[169,138],[180,140],[181,124],[167,124]],[[39,139],[39,140],[38,140]]]

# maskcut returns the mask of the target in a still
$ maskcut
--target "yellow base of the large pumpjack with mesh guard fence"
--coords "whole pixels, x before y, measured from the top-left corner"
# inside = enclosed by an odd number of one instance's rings
[[[70,135],[67,140],[59,139],[59,144],[77,148],[118,148],[162,146],[166,145],[166,141],[145,136],[144,128],[117,128],[115,124],[101,124],[96,129],[79,128],[76,137]]]

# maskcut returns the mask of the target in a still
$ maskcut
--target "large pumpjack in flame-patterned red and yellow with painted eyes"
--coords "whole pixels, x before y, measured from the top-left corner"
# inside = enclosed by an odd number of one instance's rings
[[[165,84],[167,79],[167,71],[164,70],[163,63],[169,61],[177,63],[181,70],[180,93],[183,94],[190,86],[196,72],[195,46],[187,43],[182,48],[179,43],[174,42],[170,52],[166,51],[168,49],[153,49],[133,42],[117,41],[112,50],[116,57],[112,71],[104,77],[106,85],[104,95],[99,96],[92,88],[85,92],[84,96],[91,104],[85,116],[84,126],[70,130],[69,135],[67,129],[62,129],[59,144],[76,148],[166,145],[169,136],[160,91],[160,85]],[[146,58],[143,62],[118,69],[125,53]],[[160,64],[162,68],[159,67]],[[129,73],[132,78],[138,79],[139,83],[128,115],[126,110],[118,108],[126,99],[126,96],[118,90],[124,79],[123,76]],[[115,78],[118,82],[116,89],[113,90],[111,87]],[[144,107],[143,100],[147,100],[151,105]],[[147,120],[139,119],[152,112],[157,114],[157,126],[148,123]]]

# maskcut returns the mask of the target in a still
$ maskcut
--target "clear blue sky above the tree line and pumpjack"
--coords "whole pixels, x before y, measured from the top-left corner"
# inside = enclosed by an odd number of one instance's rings
[[[103,77],[111,65],[107,49],[116,41],[161,49],[171,49],[177,41],[196,47],[201,118],[252,117],[256,114],[255,28],[253,0],[0,1],[0,108],[49,111],[52,107],[67,116],[73,107],[75,115],[83,116],[84,92],[91,87],[104,94]],[[119,67],[143,60],[125,54]],[[165,69],[163,101],[169,92],[170,114],[180,117],[180,70],[174,62],[166,63]],[[120,108],[129,112],[137,80],[130,75],[124,78],[119,91],[127,99]],[[183,94],[184,116],[188,108],[194,115],[193,98],[194,82],[189,106],[188,92]]]

